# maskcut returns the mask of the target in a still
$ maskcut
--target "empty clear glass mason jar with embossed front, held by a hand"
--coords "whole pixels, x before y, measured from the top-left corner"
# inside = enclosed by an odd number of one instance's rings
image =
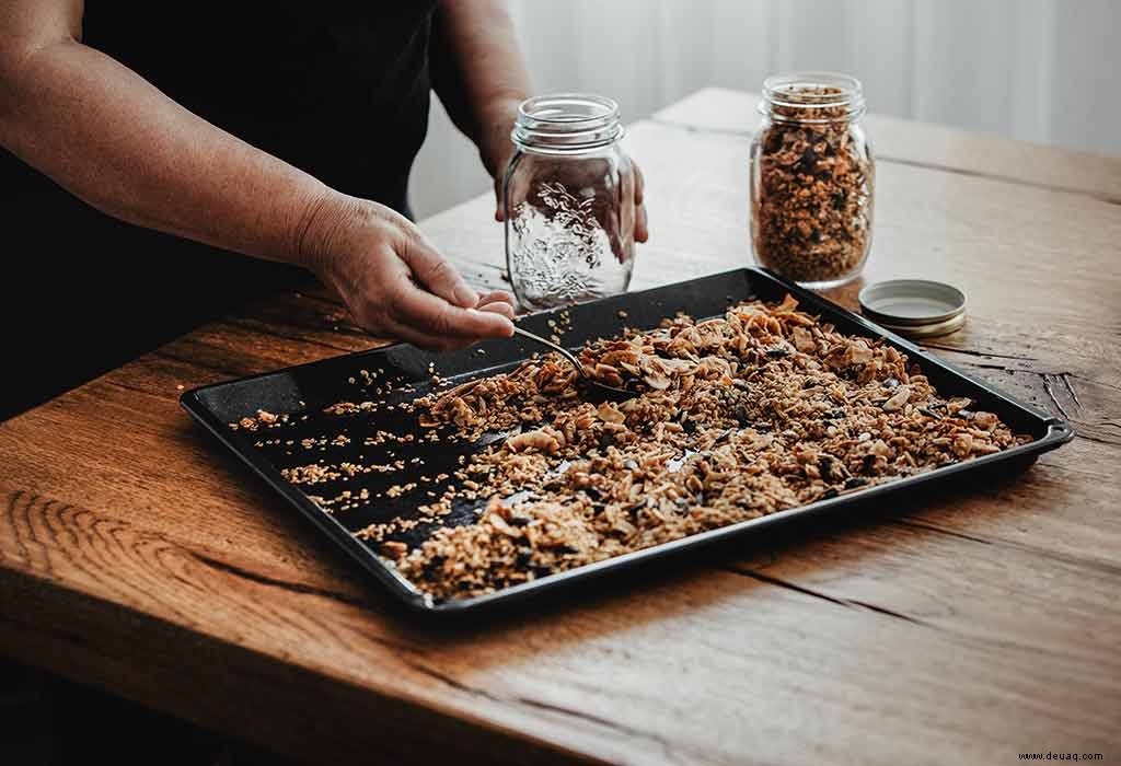
[[[506,261],[530,310],[624,292],[634,264],[634,174],[611,99],[558,93],[518,110],[503,180]]]

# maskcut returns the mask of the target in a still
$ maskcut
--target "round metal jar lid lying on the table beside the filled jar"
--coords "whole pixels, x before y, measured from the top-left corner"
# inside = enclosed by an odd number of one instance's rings
[[[965,324],[965,293],[943,282],[893,279],[860,291],[864,316],[911,337],[946,335]]]

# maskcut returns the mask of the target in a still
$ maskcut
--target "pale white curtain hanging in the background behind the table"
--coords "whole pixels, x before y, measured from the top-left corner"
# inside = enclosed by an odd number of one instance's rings
[[[706,85],[860,77],[871,110],[1121,152],[1121,0],[509,0],[539,92],[593,91],[630,122]],[[419,216],[489,186],[436,105]]]

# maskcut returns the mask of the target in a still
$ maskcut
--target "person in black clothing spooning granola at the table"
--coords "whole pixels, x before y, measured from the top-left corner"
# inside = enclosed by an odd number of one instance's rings
[[[9,0],[0,40],[0,326],[22,371],[0,418],[291,283],[233,253],[315,273],[378,337],[512,333],[510,297],[466,284],[407,193],[430,90],[504,168],[531,88],[498,0]]]

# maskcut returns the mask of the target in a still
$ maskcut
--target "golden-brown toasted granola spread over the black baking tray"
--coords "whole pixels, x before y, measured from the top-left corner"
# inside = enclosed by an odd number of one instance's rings
[[[641,395],[584,401],[550,356],[415,402],[421,423],[462,438],[520,429],[461,471],[488,499],[474,523],[383,548],[419,588],[488,594],[1030,440],[789,296],[678,316],[582,361]]]

